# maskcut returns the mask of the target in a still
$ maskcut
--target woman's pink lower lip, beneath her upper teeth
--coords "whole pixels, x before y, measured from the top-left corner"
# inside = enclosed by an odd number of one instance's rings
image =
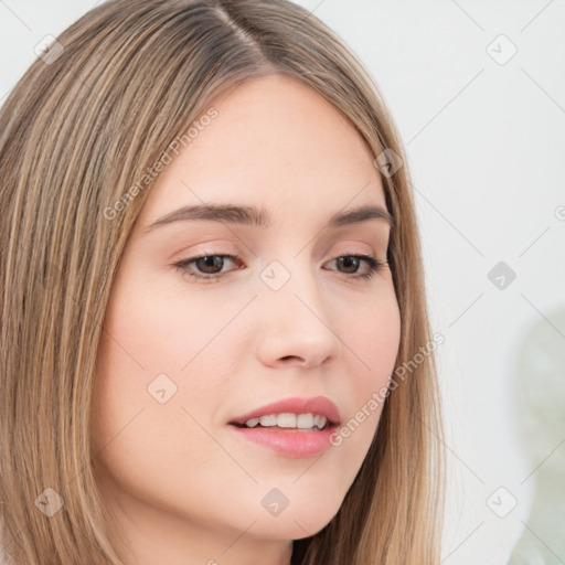
[[[239,436],[291,458],[315,457],[331,447],[330,436],[334,426],[307,431],[298,428],[239,428],[230,426]]]

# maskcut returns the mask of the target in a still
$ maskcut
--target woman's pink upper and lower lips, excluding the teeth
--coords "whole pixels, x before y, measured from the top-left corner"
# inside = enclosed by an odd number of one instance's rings
[[[328,426],[319,431],[307,431],[297,428],[241,428],[230,426],[235,433],[258,445],[291,458],[313,457],[331,447],[331,434],[340,422],[340,413],[335,404],[324,396],[312,398],[287,398],[262,406],[241,416],[231,424],[244,424],[250,418],[259,418],[270,414],[320,414],[328,418]]]

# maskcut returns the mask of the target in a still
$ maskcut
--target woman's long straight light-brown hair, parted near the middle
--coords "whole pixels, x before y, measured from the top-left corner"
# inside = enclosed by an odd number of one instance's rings
[[[273,73],[332,103],[375,158],[387,149],[406,163],[363,66],[287,0],[110,0],[64,31],[0,110],[0,518],[15,564],[121,563],[89,426],[113,279],[154,177],[148,171],[216,95]],[[431,335],[406,164],[382,179],[404,366]],[[386,397],[338,514],[295,542],[294,564],[439,563],[434,355],[415,365]]]

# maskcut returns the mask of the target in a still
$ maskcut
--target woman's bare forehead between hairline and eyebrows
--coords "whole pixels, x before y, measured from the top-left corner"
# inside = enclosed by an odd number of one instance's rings
[[[196,119],[198,135],[157,179],[142,213],[148,221],[180,205],[212,202],[310,217],[349,204],[386,207],[363,138],[299,81],[254,78],[212,100],[211,109],[214,117]]]

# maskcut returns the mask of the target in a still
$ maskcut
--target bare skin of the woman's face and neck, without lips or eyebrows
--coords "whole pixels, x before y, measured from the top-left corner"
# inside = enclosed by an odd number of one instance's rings
[[[98,351],[92,431],[95,471],[124,535],[126,565],[287,565],[291,541],[338,512],[379,425],[371,413],[339,447],[291,458],[228,425],[265,404],[323,395],[342,423],[388,382],[399,311],[385,264],[390,226],[369,220],[324,227],[337,212],[386,207],[373,156],[349,121],[296,79],[247,81],[211,104],[210,126],[151,188],[113,285]],[[211,202],[264,206],[271,226],[162,215]],[[216,282],[192,279],[182,259],[234,254]],[[273,290],[274,260],[290,278]],[[206,276],[193,262],[185,271]],[[279,276],[279,275],[277,275]],[[177,393],[148,393],[159,374]],[[279,489],[288,507],[262,504]]]

